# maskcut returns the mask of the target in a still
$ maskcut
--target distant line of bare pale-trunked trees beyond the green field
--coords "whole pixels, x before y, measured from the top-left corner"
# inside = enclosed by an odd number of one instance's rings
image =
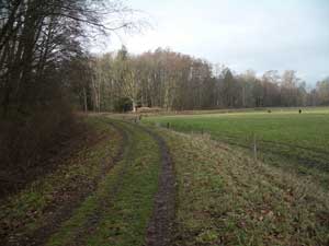
[[[167,110],[328,105],[329,80],[306,90],[295,71],[235,73],[194,57],[158,48],[138,56],[117,52],[84,59],[77,102],[95,112],[160,107]]]

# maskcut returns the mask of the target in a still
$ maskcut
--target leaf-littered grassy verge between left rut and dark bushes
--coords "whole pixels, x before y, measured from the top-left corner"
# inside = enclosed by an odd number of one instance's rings
[[[79,202],[86,196],[83,194],[93,190],[104,169],[112,165],[122,136],[106,120],[88,117],[86,121],[94,129],[97,141],[93,145],[80,150],[54,173],[0,202],[1,245],[24,242],[26,236],[53,223],[50,218],[58,209]]]

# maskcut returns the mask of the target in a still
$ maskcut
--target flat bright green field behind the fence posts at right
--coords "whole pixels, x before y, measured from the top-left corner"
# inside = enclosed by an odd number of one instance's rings
[[[257,154],[265,162],[310,174],[328,188],[329,108],[304,108],[302,114],[297,109],[277,108],[271,113],[155,116],[144,121],[182,132],[211,134],[250,153],[256,142]]]

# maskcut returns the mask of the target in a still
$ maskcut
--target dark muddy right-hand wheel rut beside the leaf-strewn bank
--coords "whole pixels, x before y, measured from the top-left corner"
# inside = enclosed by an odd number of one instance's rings
[[[149,221],[146,245],[170,246],[172,242],[172,227],[174,221],[174,172],[164,140],[151,130],[145,129],[159,144],[161,166],[159,175],[159,188],[155,198],[155,208]]]

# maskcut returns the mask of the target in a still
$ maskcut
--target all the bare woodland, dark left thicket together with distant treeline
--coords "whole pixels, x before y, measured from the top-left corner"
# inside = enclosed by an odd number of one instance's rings
[[[24,174],[38,163],[58,138],[72,134],[77,110],[329,104],[329,79],[307,91],[295,71],[236,73],[161,48],[89,54],[88,44],[100,35],[138,30],[133,13],[120,1],[0,1],[2,169],[22,163],[16,171]]]

